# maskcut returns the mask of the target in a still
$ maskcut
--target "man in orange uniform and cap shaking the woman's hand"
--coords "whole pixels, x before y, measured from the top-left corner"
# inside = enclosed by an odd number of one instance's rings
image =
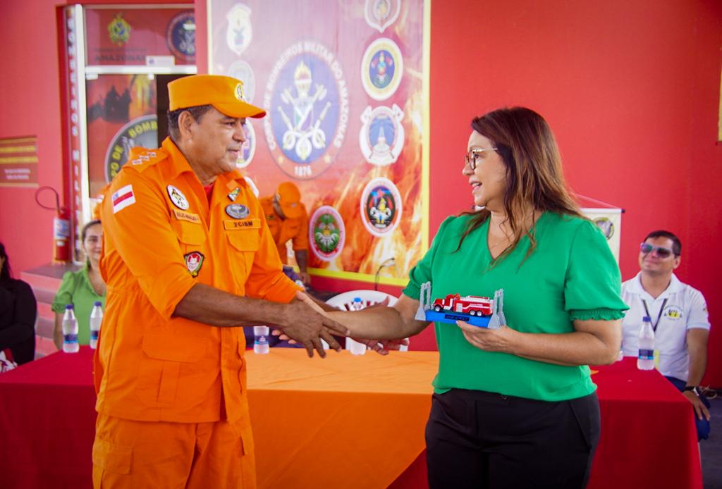
[[[135,152],[100,209],[108,284],[95,355],[93,484],[254,488],[243,325],[321,356],[346,330],[299,300],[261,204],[235,170],[264,110],[227,76],[168,84],[170,137]]]

